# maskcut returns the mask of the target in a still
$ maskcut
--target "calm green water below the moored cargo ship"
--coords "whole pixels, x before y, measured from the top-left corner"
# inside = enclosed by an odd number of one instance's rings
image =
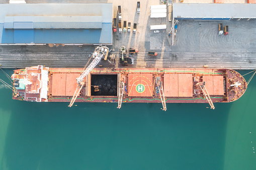
[[[0,169],[256,169],[255,84],[215,110],[170,103],[166,112],[160,103],[17,101],[0,86]]]

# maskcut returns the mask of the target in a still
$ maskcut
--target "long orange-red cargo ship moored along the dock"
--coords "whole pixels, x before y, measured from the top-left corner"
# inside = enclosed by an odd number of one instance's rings
[[[82,68],[27,67],[14,70],[13,99],[34,102],[213,103],[232,102],[247,88],[230,69],[94,68],[77,85]]]

